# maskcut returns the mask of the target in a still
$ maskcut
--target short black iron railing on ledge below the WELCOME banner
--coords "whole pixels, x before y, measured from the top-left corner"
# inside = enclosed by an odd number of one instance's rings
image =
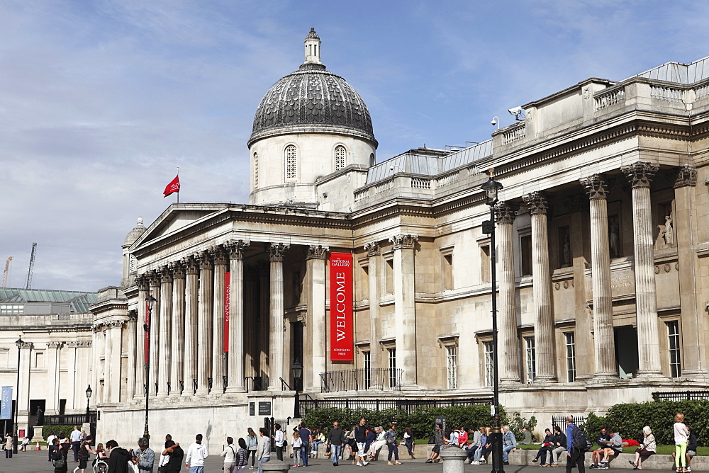
[[[320,373],[320,392],[398,390],[402,375],[403,370],[391,368],[328,371]]]

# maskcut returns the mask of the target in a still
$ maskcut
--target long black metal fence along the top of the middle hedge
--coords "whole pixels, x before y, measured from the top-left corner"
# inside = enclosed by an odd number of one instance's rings
[[[335,407],[338,409],[400,409],[407,414],[419,408],[437,408],[448,406],[476,406],[492,404],[491,397],[469,397],[466,399],[298,399],[297,412],[305,416],[311,409]]]

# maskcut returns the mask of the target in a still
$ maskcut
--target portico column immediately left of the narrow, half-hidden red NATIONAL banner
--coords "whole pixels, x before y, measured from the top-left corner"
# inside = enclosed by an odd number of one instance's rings
[[[226,353],[224,352],[224,295],[228,255],[221,248],[213,252],[214,258],[214,312],[212,333],[212,393],[224,392],[226,375]]]

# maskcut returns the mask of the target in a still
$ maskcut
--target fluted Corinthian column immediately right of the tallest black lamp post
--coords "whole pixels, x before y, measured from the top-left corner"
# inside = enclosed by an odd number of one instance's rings
[[[515,249],[512,237],[512,224],[515,222],[516,215],[516,209],[506,202],[495,205],[498,236],[497,273],[500,276],[500,304],[498,305],[502,358],[500,381],[503,383],[514,383],[521,380],[520,347],[517,336],[517,298],[515,297]]]

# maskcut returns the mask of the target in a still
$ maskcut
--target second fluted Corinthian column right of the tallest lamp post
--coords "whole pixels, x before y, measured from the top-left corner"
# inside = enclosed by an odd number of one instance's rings
[[[523,197],[532,216],[532,292],[535,305],[535,353],[540,382],[557,380],[557,357],[554,353],[554,314],[552,280],[549,273],[549,237],[547,199],[540,192]]]

